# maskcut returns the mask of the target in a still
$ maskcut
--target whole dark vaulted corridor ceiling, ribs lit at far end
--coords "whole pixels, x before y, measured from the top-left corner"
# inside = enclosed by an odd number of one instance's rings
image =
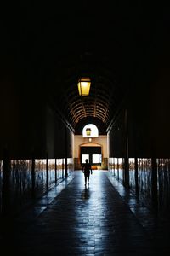
[[[155,3],[157,15],[140,1],[67,2],[6,6],[3,47],[14,52],[30,80],[45,86],[49,101],[73,128],[86,118],[108,127],[127,92],[146,78],[160,54],[161,6]],[[83,98],[77,90],[82,75],[92,79]]]

